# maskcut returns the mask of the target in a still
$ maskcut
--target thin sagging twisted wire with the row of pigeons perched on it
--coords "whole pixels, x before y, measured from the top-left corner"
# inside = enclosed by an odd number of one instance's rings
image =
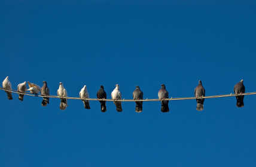
[[[86,99],[86,100],[94,100],[94,101],[162,101],[159,98],[153,98],[153,99],[140,99],[140,100],[112,100],[112,99],[97,99],[97,98],[79,98],[79,97],[60,97],[57,95],[42,95],[42,94],[32,94],[30,92],[18,92],[16,90],[10,90],[10,89],[4,89],[0,88],[3,91],[8,91],[8,92],[13,92],[16,94],[24,94],[24,95],[31,95],[35,97],[50,97],[50,98],[67,98],[67,99],[75,99],[75,100],[81,100],[81,99]],[[211,95],[211,96],[205,96],[205,97],[181,97],[181,98],[165,98],[164,100],[192,100],[192,99],[201,99],[201,98],[218,98],[218,97],[231,97],[231,96],[239,96],[239,95],[253,95],[256,94],[256,92],[248,92],[248,93],[243,93],[243,94],[226,94],[226,95]]]

